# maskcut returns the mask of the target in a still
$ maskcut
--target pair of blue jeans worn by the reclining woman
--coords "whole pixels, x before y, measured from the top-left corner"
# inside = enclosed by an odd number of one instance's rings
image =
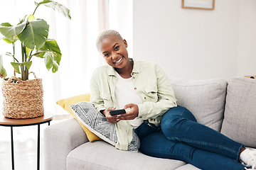
[[[238,162],[242,144],[197,123],[181,106],[169,109],[160,127],[144,120],[135,132],[141,141],[140,152],[151,157],[178,159],[204,170],[245,169]]]

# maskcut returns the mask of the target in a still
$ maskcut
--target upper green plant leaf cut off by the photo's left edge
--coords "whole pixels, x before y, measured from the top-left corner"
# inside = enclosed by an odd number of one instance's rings
[[[4,35],[6,38],[10,39],[14,35],[18,35],[19,33],[21,33],[25,27],[26,21],[17,26],[11,26],[10,23],[1,23],[0,33]]]

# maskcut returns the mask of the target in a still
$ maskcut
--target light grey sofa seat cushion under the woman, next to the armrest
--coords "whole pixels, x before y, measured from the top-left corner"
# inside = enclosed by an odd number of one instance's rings
[[[118,150],[104,141],[87,142],[80,145],[68,154],[67,162],[68,170],[171,170],[186,164],[172,159],[149,157],[140,152]]]

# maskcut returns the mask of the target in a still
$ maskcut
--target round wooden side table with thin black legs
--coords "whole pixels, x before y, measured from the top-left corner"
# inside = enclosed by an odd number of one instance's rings
[[[51,120],[53,120],[53,115],[50,113],[45,113],[41,117],[31,118],[31,119],[11,119],[11,118],[4,118],[4,115],[0,115],[0,125],[11,127],[11,165],[13,170],[14,170],[13,127],[38,125],[37,169],[39,170],[40,169],[40,125],[43,123],[48,123],[48,125],[50,125]]]

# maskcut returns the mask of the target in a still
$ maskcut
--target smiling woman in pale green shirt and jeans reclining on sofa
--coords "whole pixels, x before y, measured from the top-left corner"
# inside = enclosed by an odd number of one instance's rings
[[[115,30],[105,30],[97,38],[97,49],[108,66],[92,76],[91,102],[109,123],[129,121],[141,141],[139,150],[151,157],[178,159],[199,169],[255,168],[255,149],[245,149],[196,123],[190,111],[176,105],[164,71],[152,62],[129,59],[127,47]],[[129,111],[110,115],[116,108]]]

